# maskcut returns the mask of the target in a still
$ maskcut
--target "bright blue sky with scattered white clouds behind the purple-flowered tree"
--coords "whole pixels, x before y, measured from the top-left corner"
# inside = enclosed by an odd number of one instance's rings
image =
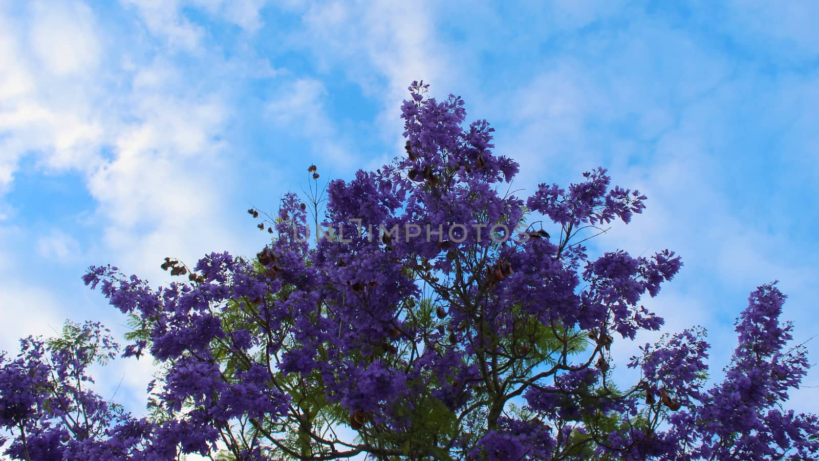
[[[301,190],[310,163],[347,178],[403,152],[400,101],[421,79],[495,126],[516,188],[603,166],[648,195],[591,249],[682,255],[648,305],[667,331],[708,328],[715,377],[757,285],[781,281],[807,340],[819,3],[690,3],[0,0],[0,349],[66,318],[120,334],[79,280],[90,264],[158,285],[165,256],[255,253],[267,234],[245,210]],[[625,363],[636,345],[613,350]],[[150,369],[115,363],[99,386],[121,379],[138,407]],[[794,398],[819,411],[817,392]]]

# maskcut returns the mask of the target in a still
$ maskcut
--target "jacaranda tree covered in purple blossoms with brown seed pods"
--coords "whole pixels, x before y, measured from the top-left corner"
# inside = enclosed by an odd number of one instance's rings
[[[148,416],[88,390],[87,367],[118,346],[98,324],[67,323],[0,359],[6,454],[817,459],[817,416],[784,409],[808,362],[787,345],[774,284],[750,295],[721,382],[700,328],[645,345],[626,364],[640,379],[613,382],[611,346],[663,326],[640,299],[681,260],[592,260],[582,243],[645,196],[611,188],[604,169],[509,193],[518,164],[491,152],[493,129],[464,127],[463,101],[427,89],[412,84],[401,107],[405,154],[329,182],[326,197],[310,167],[316,194],[283,197],[256,258],[166,258],[182,278],[156,289],[90,267],[85,284],[133,327],[122,355],[160,365]]]

